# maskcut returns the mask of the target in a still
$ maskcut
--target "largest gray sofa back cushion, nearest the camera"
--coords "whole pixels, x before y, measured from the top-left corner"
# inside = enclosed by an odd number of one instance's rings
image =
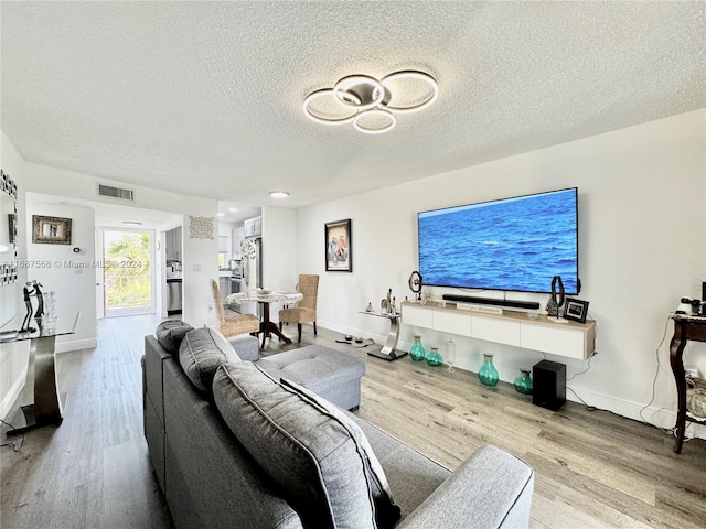
[[[221,366],[214,402],[304,527],[374,528],[366,460],[336,418],[257,365]]]

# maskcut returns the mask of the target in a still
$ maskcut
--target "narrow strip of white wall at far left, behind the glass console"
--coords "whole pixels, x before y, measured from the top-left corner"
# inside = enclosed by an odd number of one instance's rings
[[[18,184],[18,241],[26,238],[25,206],[24,206],[24,160],[14,148],[10,139],[0,131],[0,168]],[[18,245],[19,261],[26,260],[26,248]],[[20,306],[21,287],[26,281],[26,268],[18,268],[18,281],[0,287],[0,303],[2,313],[11,312],[20,315],[6,325],[7,328],[19,328],[22,325]],[[3,327],[3,328],[6,328]],[[29,341],[0,344],[0,418],[7,419],[10,409],[14,404],[26,378],[28,363],[30,359]]]

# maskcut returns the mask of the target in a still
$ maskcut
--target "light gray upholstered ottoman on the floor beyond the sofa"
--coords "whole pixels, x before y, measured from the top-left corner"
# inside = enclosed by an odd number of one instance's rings
[[[237,352],[237,349],[236,349]],[[257,360],[270,377],[287,378],[343,408],[361,406],[361,377],[365,363],[322,345],[308,345]]]

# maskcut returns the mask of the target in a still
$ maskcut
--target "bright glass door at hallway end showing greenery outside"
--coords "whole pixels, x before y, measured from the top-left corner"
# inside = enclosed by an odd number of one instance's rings
[[[101,230],[105,317],[154,312],[152,230]]]

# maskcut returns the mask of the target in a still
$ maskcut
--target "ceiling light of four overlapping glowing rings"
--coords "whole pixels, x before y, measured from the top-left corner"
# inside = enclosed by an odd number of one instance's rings
[[[333,88],[309,94],[304,115],[322,125],[353,122],[355,130],[379,134],[397,123],[396,114],[411,114],[429,107],[439,96],[439,85],[422,72],[395,72],[377,80],[368,75],[350,75]]]

